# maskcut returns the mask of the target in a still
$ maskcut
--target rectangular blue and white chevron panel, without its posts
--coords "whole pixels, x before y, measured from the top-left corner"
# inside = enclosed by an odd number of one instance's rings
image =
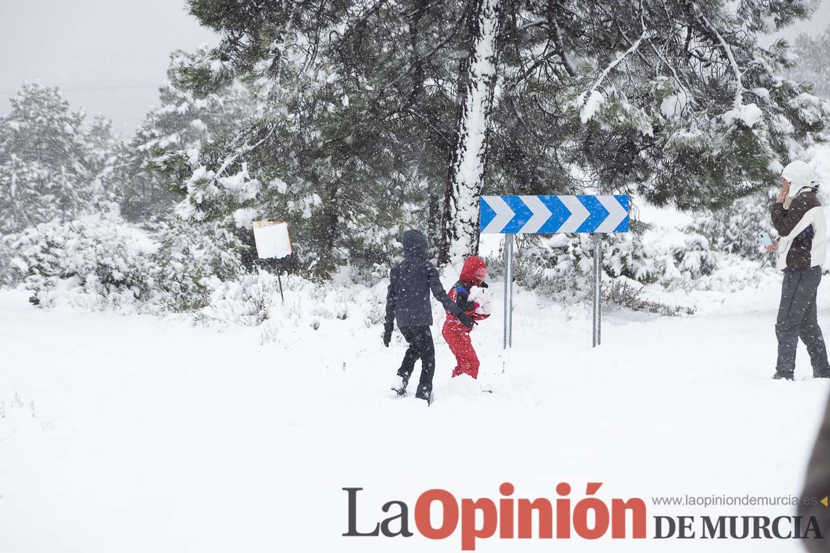
[[[481,196],[482,234],[628,232],[628,196]]]

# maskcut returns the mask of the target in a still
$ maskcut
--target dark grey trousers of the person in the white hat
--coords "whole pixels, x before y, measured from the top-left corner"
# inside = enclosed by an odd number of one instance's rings
[[[821,280],[821,267],[784,271],[781,304],[775,322],[775,335],[779,341],[779,358],[775,371],[779,375],[793,376],[795,349],[798,338],[801,338],[810,354],[813,376],[830,376],[828,352],[824,347],[824,337],[822,329],[818,327],[816,313],[816,295]]]

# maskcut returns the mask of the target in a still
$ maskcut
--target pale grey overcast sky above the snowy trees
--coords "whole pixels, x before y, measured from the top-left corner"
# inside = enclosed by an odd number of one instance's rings
[[[830,0],[787,32],[830,24]],[[73,109],[105,114],[129,134],[158,104],[168,55],[217,37],[184,0],[0,0],[0,114],[25,80],[61,87]]]

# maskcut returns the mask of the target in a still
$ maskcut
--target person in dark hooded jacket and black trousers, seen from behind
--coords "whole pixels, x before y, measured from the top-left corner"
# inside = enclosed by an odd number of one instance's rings
[[[383,325],[383,345],[389,347],[394,321],[409,347],[398,369],[398,381],[393,390],[406,393],[415,361],[421,359],[421,381],[415,397],[432,401],[432,374],[435,371],[435,344],[432,342],[432,306],[429,294],[442,303],[466,327],[472,328],[472,318],[444,292],[435,265],[427,260],[427,237],[417,230],[403,233],[403,261],[389,271],[386,294],[386,323]]]

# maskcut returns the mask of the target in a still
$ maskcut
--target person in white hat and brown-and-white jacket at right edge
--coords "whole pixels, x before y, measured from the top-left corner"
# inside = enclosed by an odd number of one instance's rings
[[[816,195],[818,178],[807,163],[794,161],[784,167],[781,185],[772,208],[773,226],[780,236],[774,245],[777,265],[784,271],[775,323],[779,347],[773,378],[793,380],[798,338],[807,346],[813,376],[828,378],[828,352],[818,327],[816,308],[818,283],[827,255],[827,223]]]

